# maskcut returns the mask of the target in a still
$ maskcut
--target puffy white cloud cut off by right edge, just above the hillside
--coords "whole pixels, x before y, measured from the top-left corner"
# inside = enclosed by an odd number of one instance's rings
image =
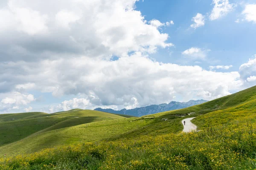
[[[255,58],[249,59],[247,63],[244,63],[239,68],[239,74],[242,80],[252,82],[253,76],[256,76],[256,55]]]

